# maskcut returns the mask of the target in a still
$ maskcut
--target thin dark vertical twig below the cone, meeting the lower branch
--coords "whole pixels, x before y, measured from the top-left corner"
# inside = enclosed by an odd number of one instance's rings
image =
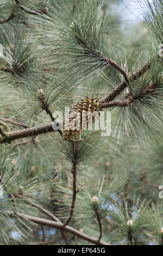
[[[76,197],[77,197],[77,172],[78,172],[78,143],[73,142],[73,155],[74,159],[72,160],[73,166],[72,166],[72,174],[73,174],[73,196],[72,196],[72,203],[71,203],[71,209],[70,209],[70,215],[67,218],[66,222],[64,223],[64,226],[66,226],[73,216],[74,207],[76,204]]]

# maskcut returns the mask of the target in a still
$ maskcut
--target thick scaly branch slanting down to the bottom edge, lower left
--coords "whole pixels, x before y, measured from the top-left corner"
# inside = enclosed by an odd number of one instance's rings
[[[51,220],[47,220],[45,218],[39,218],[39,217],[35,217],[35,216],[29,216],[26,214],[14,214],[14,212],[10,212],[10,211],[6,211],[5,214],[8,214],[8,216],[14,218],[14,217],[19,217],[24,221],[30,221],[36,224],[40,224],[40,225],[47,225],[48,227],[52,227],[52,228],[58,228],[58,229],[62,229],[64,231],[67,231],[68,233],[79,237],[80,239],[86,240],[88,242],[94,243],[95,245],[110,245],[110,243],[106,243],[103,241],[98,241],[98,239],[95,239],[89,235],[86,235],[85,233],[74,229],[68,225],[63,226],[62,223],[60,222],[56,222],[56,221],[51,221]]]

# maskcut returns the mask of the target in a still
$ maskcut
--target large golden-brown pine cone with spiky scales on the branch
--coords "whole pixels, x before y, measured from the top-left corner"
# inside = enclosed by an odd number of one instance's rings
[[[100,114],[101,107],[98,99],[87,96],[73,106],[68,116],[65,118],[62,136],[65,139],[74,139],[83,130],[86,130],[88,124],[94,123],[95,117]]]

